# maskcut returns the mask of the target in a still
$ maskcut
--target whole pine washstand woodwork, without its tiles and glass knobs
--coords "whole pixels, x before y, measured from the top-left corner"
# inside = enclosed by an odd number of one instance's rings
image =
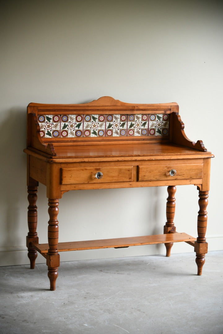
[[[38,115],[166,114],[169,132],[163,135],[135,137],[41,138]],[[161,116],[160,116],[161,117]],[[164,118],[162,118],[164,120]],[[27,247],[30,267],[34,268],[37,251],[46,258],[50,290],[55,290],[61,251],[164,243],[170,256],[174,242],[184,241],[196,252],[198,275],[207,253],[207,198],[210,160],[213,154],[201,140],[190,141],[184,132],[177,103],[128,104],[103,97],[87,104],[55,105],[31,103],[27,107]],[[177,174],[170,175],[175,169]],[[103,177],[97,179],[101,171]],[[46,186],[48,198],[48,244],[39,244],[37,227],[37,186]],[[177,185],[194,184],[199,190],[197,239],[177,233],[174,225]],[[59,199],[69,190],[168,186],[166,223],[161,235],[132,238],[58,243]],[[97,199],[96,199],[97,200]],[[149,200],[149,199],[148,199]],[[190,208],[187,208],[189,210]],[[184,213],[183,213],[184,214]],[[84,219],[84,217],[83,217]],[[69,233],[69,231],[68,231]]]

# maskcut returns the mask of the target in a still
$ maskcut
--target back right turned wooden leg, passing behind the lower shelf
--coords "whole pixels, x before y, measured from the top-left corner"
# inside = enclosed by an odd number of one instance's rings
[[[164,225],[164,231],[163,233],[169,233],[169,232],[175,232],[176,227],[174,226],[174,215],[175,215],[175,193],[176,193],[176,187],[175,186],[169,186],[167,188],[168,191],[168,198],[166,202],[166,224]],[[166,246],[166,256],[171,255],[171,248],[173,246],[173,242],[165,243]]]

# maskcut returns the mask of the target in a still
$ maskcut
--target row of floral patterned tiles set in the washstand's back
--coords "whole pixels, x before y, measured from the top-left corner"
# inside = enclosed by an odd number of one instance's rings
[[[166,136],[168,114],[38,115],[45,138]]]

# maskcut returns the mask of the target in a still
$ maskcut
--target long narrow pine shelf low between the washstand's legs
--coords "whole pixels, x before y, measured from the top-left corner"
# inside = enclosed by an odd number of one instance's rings
[[[169,242],[190,242],[196,240],[193,236],[186,233],[169,233],[169,234],[156,234],[145,236],[134,236],[127,238],[116,239],[101,239],[101,240],[86,240],[86,241],[73,241],[73,242],[59,242],[58,251],[81,251],[83,249],[98,249],[98,248],[119,248],[139,245],[149,245],[157,243],[169,243]],[[33,243],[33,247],[41,253],[43,256],[48,252],[48,243]]]

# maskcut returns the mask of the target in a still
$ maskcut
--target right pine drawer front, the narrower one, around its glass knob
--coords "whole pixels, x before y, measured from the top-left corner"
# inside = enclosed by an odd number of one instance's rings
[[[170,175],[170,171],[173,176]],[[203,164],[143,165],[138,166],[138,181],[201,179]]]

